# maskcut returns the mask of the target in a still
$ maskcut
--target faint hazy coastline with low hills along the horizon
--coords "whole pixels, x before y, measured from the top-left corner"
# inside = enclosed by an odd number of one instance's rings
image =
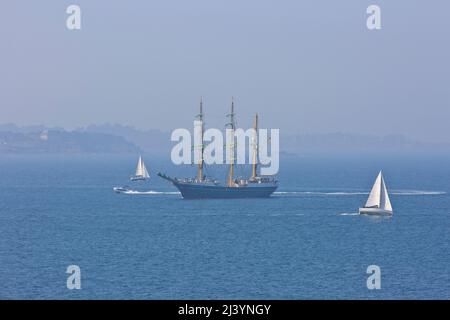
[[[403,135],[354,133],[283,135],[282,156],[346,154],[450,154],[450,143],[425,143]],[[120,124],[61,127],[0,124],[0,154],[136,154],[170,153],[170,133]]]

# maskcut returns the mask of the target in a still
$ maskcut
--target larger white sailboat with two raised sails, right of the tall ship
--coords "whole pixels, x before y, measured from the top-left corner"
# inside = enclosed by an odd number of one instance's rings
[[[366,205],[359,208],[359,214],[392,215],[392,213],[391,201],[384,183],[383,173],[380,171]]]

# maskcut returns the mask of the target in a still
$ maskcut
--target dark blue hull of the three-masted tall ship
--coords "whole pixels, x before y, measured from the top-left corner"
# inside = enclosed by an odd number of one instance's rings
[[[180,182],[173,184],[185,199],[268,198],[278,187],[277,185],[226,187]]]

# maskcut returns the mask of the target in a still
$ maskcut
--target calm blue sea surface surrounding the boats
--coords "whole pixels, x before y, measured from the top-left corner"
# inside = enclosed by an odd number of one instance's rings
[[[131,183],[137,156],[2,155],[0,298],[450,299],[449,158],[284,157],[277,193],[242,200],[183,200],[155,173],[195,167],[144,159]],[[394,215],[359,216],[380,169]]]

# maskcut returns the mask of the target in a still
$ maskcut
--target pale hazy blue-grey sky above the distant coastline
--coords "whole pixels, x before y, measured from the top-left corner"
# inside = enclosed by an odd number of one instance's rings
[[[66,28],[78,4],[82,29]],[[366,28],[381,7],[382,29]],[[450,142],[450,1],[8,1],[0,123],[401,133]]]

